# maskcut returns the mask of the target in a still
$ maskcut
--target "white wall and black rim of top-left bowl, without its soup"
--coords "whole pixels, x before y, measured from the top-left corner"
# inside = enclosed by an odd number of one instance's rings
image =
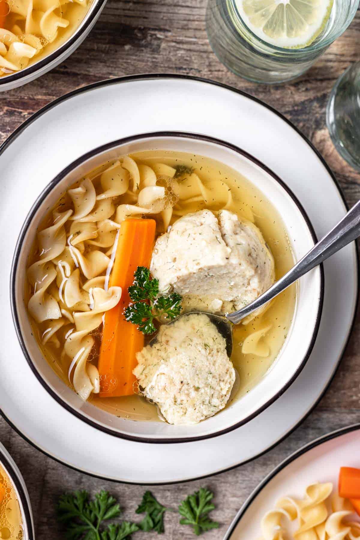
[[[47,71],[55,68],[70,56],[89,34],[93,25],[98,20],[106,1],[107,0],[92,0],[89,10],[78,28],[62,45],[49,53],[49,55],[40,58],[37,62],[32,62],[22,70],[11,73],[11,75],[0,77],[0,92],[12,90],[18,86],[30,83],[32,80],[41,77],[47,73]]]

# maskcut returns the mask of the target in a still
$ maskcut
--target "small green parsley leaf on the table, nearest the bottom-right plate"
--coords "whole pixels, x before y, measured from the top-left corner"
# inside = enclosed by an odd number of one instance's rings
[[[212,521],[209,512],[215,506],[211,502],[214,494],[206,488],[200,488],[192,495],[186,497],[179,506],[179,513],[184,516],[180,519],[181,525],[192,525],[196,536],[210,529],[218,529],[219,523]]]

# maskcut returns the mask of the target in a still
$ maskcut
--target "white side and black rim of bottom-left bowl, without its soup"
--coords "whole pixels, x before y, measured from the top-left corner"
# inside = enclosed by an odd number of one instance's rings
[[[5,473],[9,476],[12,483],[12,487],[15,490],[17,500],[19,502],[21,517],[23,519],[23,531],[24,540],[35,540],[34,524],[32,517],[32,510],[30,504],[30,497],[24,478],[21,472],[17,468],[15,461],[13,461],[9,452],[0,443],[0,465],[5,470]]]

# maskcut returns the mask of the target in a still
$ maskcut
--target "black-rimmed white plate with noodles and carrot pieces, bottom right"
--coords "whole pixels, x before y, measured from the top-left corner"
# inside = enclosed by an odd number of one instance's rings
[[[360,424],[284,460],[253,491],[224,540],[360,538]]]

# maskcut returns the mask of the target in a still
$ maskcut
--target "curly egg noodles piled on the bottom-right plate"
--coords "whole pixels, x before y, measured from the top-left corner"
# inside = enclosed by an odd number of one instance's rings
[[[311,484],[303,499],[277,501],[262,518],[259,540],[356,540],[360,523],[351,520],[353,512],[350,501],[332,494],[330,482]]]

